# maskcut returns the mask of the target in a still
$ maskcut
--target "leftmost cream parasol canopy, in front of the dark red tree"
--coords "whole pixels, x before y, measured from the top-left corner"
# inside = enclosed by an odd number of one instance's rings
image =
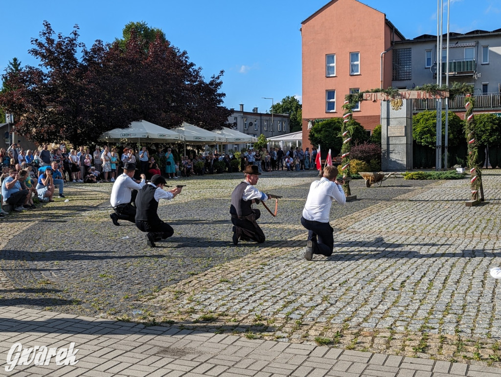
[[[99,137],[101,141],[121,141],[124,139],[128,141],[141,140],[151,143],[162,143],[182,141],[184,137],[175,131],[157,126],[145,120],[132,122],[128,128],[115,128]]]

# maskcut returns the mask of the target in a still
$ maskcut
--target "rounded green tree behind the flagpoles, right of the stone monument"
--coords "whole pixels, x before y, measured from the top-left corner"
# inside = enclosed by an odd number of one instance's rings
[[[423,111],[412,118],[412,138],[430,148],[436,146],[436,111]],[[454,147],[464,141],[463,121],[449,111],[448,145]],[[442,112],[442,145],[445,145],[445,112]]]

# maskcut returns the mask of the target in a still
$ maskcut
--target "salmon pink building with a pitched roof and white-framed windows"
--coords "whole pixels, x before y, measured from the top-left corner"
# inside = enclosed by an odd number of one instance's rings
[[[392,49],[405,38],[384,13],[356,0],[332,0],[301,25],[306,147],[308,124],[342,117],[347,94],[392,85]],[[379,101],[359,103],[353,118],[373,130]]]

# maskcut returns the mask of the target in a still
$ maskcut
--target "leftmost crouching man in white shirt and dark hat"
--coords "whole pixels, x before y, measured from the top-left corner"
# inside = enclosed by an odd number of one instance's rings
[[[117,226],[120,225],[118,220],[136,222],[136,207],[132,203],[135,202],[137,192],[145,185],[146,176],[141,174],[141,181],[134,181],[132,177],[135,172],[136,165],[128,162],[124,165],[123,174],[119,175],[113,183],[110,203],[115,212],[110,214],[110,217],[113,224]]]

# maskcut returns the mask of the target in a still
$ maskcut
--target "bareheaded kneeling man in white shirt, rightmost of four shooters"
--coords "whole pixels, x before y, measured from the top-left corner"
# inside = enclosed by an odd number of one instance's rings
[[[301,224],[308,229],[308,241],[304,255],[306,260],[312,260],[313,254],[332,255],[334,229],[329,224],[332,201],[336,200],[342,205],[346,203],[346,196],[341,187],[344,181],[336,180],[337,175],[337,167],[326,166],[323,177],[310,186],[301,217]]]

